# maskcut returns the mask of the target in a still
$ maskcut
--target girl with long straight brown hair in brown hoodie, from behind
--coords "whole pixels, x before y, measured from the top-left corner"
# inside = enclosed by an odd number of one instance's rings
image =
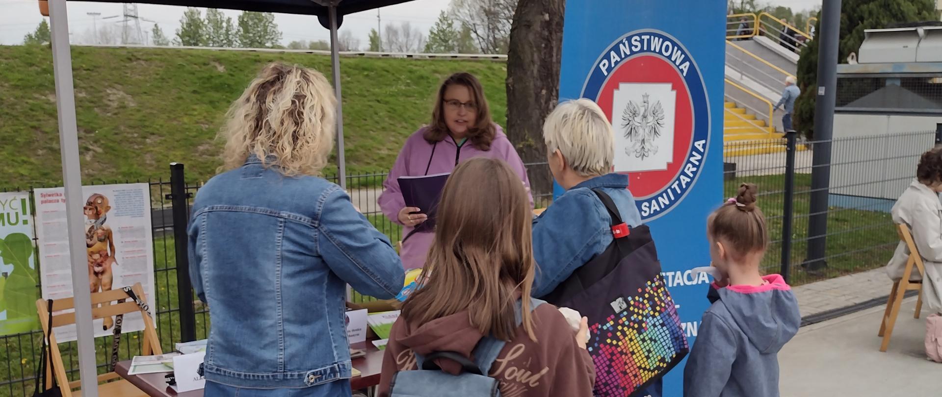
[[[417,369],[420,357],[455,352],[475,359],[485,337],[506,342],[486,373],[502,394],[592,395],[585,319],[577,333],[555,307],[530,299],[531,219],[527,190],[506,163],[475,158],[455,168],[423,279],[386,345],[381,396],[389,395],[396,373]],[[448,358],[433,361],[447,373],[463,369]]]

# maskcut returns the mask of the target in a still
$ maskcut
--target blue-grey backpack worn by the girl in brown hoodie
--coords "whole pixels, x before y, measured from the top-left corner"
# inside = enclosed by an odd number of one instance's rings
[[[536,310],[544,301],[530,298],[530,310]],[[521,305],[516,303],[517,326],[523,323]],[[505,341],[497,341],[490,336],[481,338],[474,349],[474,361],[455,352],[432,352],[429,356],[415,355],[418,370],[401,371],[393,376],[390,397],[438,397],[446,395],[463,397],[499,397],[497,379],[488,376],[491,365],[497,359]],[[458,375],[443,372],[435,359],[447,358],[462,365],[463,372]]]

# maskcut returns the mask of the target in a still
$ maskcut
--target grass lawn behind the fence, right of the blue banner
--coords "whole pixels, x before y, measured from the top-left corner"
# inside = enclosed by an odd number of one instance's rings
[[[739,183],[758,185],[760,196],[757,204],[769,221],[772,242],[763,261],[763,271],[779,273],[782,262],[785,176],[745,177],[727,181],[724,183],[724,197],[735,196]],[[810,190],[811,175],[795,175],[789,279],[792,285],[861,272],[883,266],[889,261],[899,242],[890,214],[869,211],[869,208],[831,208],[825,251],[828,267],[814,274],[805,272],[800,263],[804,261],[807,249]]]

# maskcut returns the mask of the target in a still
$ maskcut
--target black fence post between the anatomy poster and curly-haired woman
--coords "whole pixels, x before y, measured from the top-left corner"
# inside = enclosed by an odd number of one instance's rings
[[[183,165],[171,163],[171,199],[173,207],[173,247],[176,253],[177,298],[180,303],[181,341],[196,340],[196,313],[193,310],[193,286],[189,281],[189,254],[187,252],[187,226],[189,209],[187,183]]]

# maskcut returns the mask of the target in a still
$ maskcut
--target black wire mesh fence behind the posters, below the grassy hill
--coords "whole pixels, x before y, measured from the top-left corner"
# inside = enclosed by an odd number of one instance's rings
[[[548,172],[545,163],[528,164],[527,167],[531,174]],[[402,237],[402,227],[382,214],[377,205],[377,199],[382,193],[382,182],[385,181],[386,176],[385,172],[348,175],[346,177],[347,190],[353,204],[378,230],[389,236],[390,240],[395,243]],[[328,176],[327,179],[333,183],[338,182],[336,176]],[[136,181],[109,183],[134,182]],[[106,182],[92,184],[104,183]],[[184,167],[180,164],[171,165],[170,181],[161,179],[148,183],[151,191],[151,227],[154,235],[154,300],[156,304],[153,309],[154,321],[163,350],[172,351],[174,342],[193,341],[208,336],[208,309],[199,299],[196,299],[189,284],[187,246],[176,244],[177,241],[186,242],[189,206],[200,185],[186,182]],[[28,192],[32,201],[33,190],[42,187],[52,186],[8,187],[0,191]],[[552,192],[534,194],[534,196],[538,204],[543,206],[548,205],[552,200]],[[38,250],[34,252],[34,255],[37,258],[37,267],[40,268]],[[36,287],[37,298],[39,298],[41,286]],[[351,295],[353,302],[370,299],[369,296],[355,292]],[[130,359],[139,355],[142,335],[139,332],[124,335],[119,351],[120,359]],[[110,371],[107,363],[111,357],[112,342],[111,337],[95,339],[98,373]],[[0,336],[0,343],[2,343],[0,344],[0,397],[31,396],[36,379],[36,364],[41,354],[41,329]],[[75,380],[74,378],[78,376],[78,350],[75,342],[60,343],[59,349],[66,373],[70,376],[70,380]]]

